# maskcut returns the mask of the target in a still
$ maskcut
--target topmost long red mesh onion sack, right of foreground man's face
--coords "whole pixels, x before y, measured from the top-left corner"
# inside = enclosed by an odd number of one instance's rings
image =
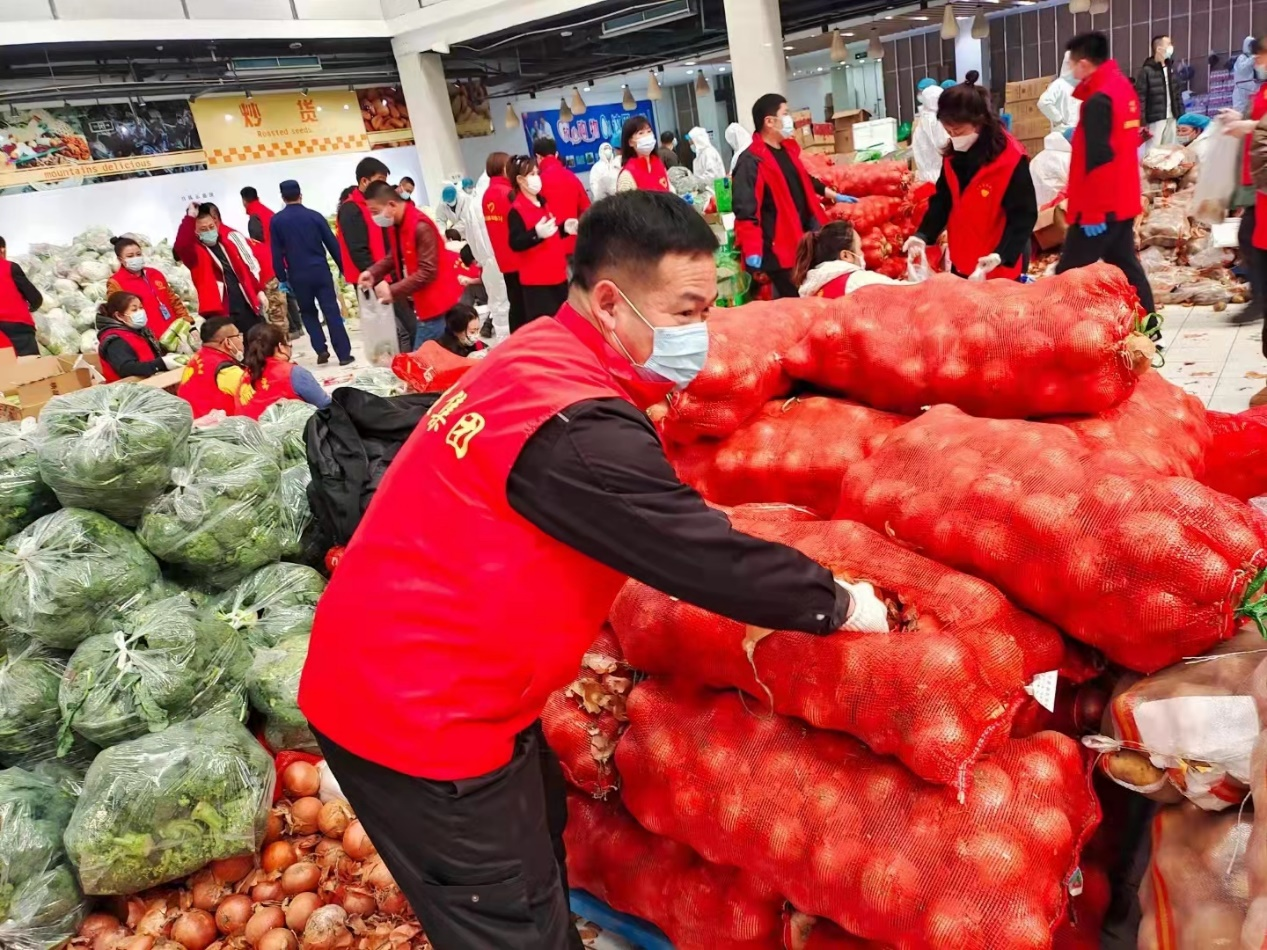
[[[950,403],[973,415],[1092,415],[1135,386],[1154,353],[1135,291],[1106,263],[1038,284],[939,274],[834,301],[787,371],[875,409]]]

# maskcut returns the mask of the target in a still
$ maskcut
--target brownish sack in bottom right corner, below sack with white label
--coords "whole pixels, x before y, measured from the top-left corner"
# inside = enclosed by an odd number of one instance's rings
[[[1211,813],[1191,803],[1158,809],[1153,855],[1139,888],[1139,950],[1261,946],[1242,944],[1251,827],[1237,811]]]

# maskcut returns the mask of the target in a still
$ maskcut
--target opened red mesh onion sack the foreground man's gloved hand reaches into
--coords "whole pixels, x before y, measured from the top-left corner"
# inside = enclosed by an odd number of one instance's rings
[[[988,584],[846,521],[732,524],[803,551],[840,578],[869,581],[892,633],[761,637],[744,624],[628,581],[612,627],[645,673],[737,687],[777,712],[856,736],[929,782],[963,789],[1000,746],[1025,684],[1060,665],[1060,636]],[[758,640],[758,637],[760,637]],[[895,657],[900,656],[897,661]]]

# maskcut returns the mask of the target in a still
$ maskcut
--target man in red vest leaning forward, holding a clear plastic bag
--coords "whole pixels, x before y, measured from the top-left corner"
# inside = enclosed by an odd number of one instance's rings
[[[440,339],[445,314],[462,296],[457,255],[445,246],[436,222],[388,182],[370,185],[365,204],[375,224],[392,228],[392,253],[361,275],[360,286],[385,304],[412,305],[418,332],[411,350]]]

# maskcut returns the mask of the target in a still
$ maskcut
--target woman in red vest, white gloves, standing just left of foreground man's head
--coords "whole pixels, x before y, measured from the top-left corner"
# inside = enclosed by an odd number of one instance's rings
[[[519,260],[519,286],[526,322],[554,317],[568,301],[568,246],[576,233],[576,219],[557,220],[541,198],[537,160],[519,155],[507,174],[514,182],[511,213],[511,250]]]

